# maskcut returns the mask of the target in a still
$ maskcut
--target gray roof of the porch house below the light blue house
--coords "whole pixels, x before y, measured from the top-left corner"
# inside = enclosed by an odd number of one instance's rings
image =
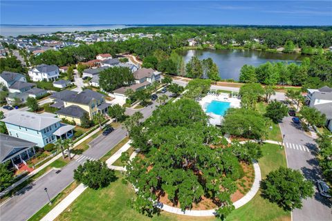
[[[0,162],[6,159],[14,148],[33,147],[37,144],[0,133]]]

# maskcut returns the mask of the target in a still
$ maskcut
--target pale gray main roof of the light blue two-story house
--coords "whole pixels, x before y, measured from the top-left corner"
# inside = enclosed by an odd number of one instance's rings
[[[50,113],[37,114],[30,113],[28,111],[20,111],[9,115],[5,119],[1,119],[1,121],[8,124],[15,124],[17,126],[30,128],[35,131],[41,131],[42,129],[60,121],[60,119],[55,118],[55,116],[56,115]]]

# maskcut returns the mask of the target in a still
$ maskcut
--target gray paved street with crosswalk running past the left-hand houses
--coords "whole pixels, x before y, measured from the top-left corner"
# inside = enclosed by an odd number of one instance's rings
[[[152,107],[152,108],[151,108]],[[145,119],[149,117],[156,108],[156,102],[140,110]],[[126,113],[132,115],[135,110],[127,109]],[[6,203],[0,206],[0,220],[1,221],[23,221],[28,220],[33,214],[48,203],[47,195],[44,188],[47,187],[50,198],[54,198],[60,193],[68,184],[73,182],[73,170],[78,165],[83,164],[86,160],[96,160],[102,157],[105,153],[111,150],[118,142],[120,142],[127,135],[124,128],[117,128],[108,136],[99,136],[90,143],[90,148],[75,160],[70,162],[61,171],[51,171],[30,184],[23,191],[15,195]]]

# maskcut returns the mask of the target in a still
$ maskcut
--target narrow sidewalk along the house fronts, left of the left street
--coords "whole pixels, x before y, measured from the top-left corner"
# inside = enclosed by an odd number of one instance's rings
[[[111,124],[111,122],[113,122],[113,119],[109,120],[109,122],[107,122],[106,124]],[[89,137],[95,135],[95,133],[98,133],[99,129],[95,129],[95,131],[89,133],[89,135],[86,135],[85,137],[83,137],[81,140],[77,141],[74,145],[73,148],[75,148],[76,146],[80,145],[82,142],[84,142],[85,140],[89,139]],[[7,189],[3,190],[0,193],[0,196],[2,197],[3,195],[6,195],[9,191],[11,191],[12,189],[14,189],[15,187],[19,186],[19,184],[21,184],[22,182],[28,180],[30,177],[32,177],[33,175],[35,175],[36,173],[38,173],[39,171],[42,171],[42,169],[45,169],[48,165],[52,164],[53,162],[55,162],[55,160],[59,159],[60,157],[62,157],[62,153],[59,153],[58,155],[55,155],[55,157],[53,157],[51,160],[49,160],[48,162],[46,162],[45,164],[43,164],[42,166],[39,166],[37,169],[35,169],[34,171],[32,171],[31,173],[29,173],[28,175],[26,175],[25,177],[23,177],[21,180],[15,182],[15,184],[12,184],[11,186],[9,186]]]

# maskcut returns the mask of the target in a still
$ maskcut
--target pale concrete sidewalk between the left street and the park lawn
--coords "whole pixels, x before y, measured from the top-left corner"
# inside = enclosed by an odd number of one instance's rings
[[[116,151],[116,153],[114,153],[113,155],[111,155],[111,157],[109,157],[109,159],[106,161],[107,166],[109,168],[111,168],[111,169],[116,168],[120,171],[125,170],[124,167],[122,167],[122,166],[112,166],[112,164],[114,162],[116,162],[116,160],[118,160],[118,158],[121,156],[121,154],[123,152],[125,152],[129,149],[130,142],[131,142],[131,140],[129,140],[118,151]],[[135,155],[133,157],[135,157]],[[131,157],[131,159],[133,157]],[[55,206],[51,211],[49,211],[44,216],[44,218],[42,218],[41,221],[55,220],[55,218],[57,218],[57,216],[60,215],[72,202],[74,202],[74,200],[76,200],[86,189],[87,189],[87,186],[84,186],[84,184],[80,184],[79,186],[77,186],[69,195],[66,196],[66,198],[64,198],[64,200],[59,202],[59,204],[57,204],[57,206]]]

